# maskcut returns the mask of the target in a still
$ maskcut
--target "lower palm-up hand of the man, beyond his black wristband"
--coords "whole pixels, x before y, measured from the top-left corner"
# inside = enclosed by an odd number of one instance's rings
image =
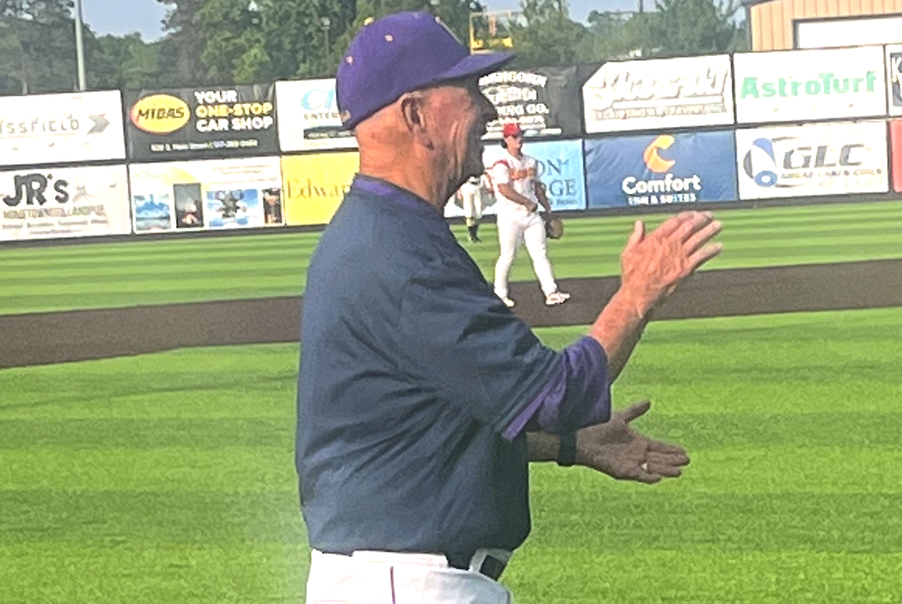
[[[601,471],[617,480],[653,484],[662,478],[677,478],[689,463],[686,451],[676,444],[652,440],[630,423],[651,407],[648,400],[614,411],[605,424],[576,433],[576,463]]]

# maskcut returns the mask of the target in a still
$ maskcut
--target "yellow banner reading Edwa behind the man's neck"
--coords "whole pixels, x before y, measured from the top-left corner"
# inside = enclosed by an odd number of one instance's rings
[[[332,220],[360,165],[356,151],[296,155],[281,161],[289,225]]]

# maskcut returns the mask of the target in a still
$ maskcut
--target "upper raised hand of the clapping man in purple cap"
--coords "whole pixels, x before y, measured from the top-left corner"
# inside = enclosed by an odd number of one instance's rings
[[[721,243],[710,243],[720,232],[721,223],[710,212],[683,212],[649,234],[645,224],[636,221],[621,252],[621,291],[640,316],[721,252]]]

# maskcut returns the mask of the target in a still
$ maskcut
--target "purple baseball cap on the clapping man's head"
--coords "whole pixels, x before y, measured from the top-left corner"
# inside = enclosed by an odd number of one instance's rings
[[[353,129],[404,93],[484,76],[513,57],[512,52],[470,54],[433,14],[382,17],[357,32],[338,66],[336,100],[342,123]]]

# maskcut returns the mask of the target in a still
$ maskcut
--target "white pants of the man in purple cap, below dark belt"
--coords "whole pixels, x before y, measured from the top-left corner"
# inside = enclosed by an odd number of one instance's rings
[[[313,551],[307,604],[511,604],[511,592],[483,574],[450,568],[445,556]]]

